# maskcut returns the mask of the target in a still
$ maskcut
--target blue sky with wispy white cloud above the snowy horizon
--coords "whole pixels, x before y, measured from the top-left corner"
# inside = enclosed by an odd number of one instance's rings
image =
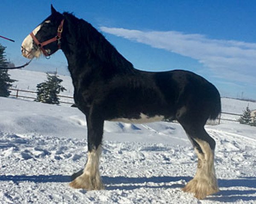
[[[23,39],[50,14],[73,12],[105,35],[135,68],[185,69],[212,82],[222,96],[256,99],[256,1],[253,0],[1,0],[0,38],[16,65]],[[61,51],[26,68],[68,75]]]

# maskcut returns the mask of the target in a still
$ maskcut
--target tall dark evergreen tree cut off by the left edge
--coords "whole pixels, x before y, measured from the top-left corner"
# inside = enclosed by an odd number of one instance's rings
[[[0,44],[0,67],[7,67],[8,62],[5,55],[5,47]],[[7,69],[0,69],[0,96],[8,97],[10,92],[8,89],[16,80],[10,79]]]

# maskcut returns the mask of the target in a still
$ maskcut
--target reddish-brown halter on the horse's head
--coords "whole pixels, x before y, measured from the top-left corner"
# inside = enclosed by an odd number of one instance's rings
[[[35,37],[35,35],[33,34],[33,32],[30,33],[30,36],[32,37],[32,39],[35,41],[35,43],[38,45],[38,47],[41,49],[41,51],[44,53],[45,57],[49,57],[50,55],[47,53],[47,51],[44,49],[45,45],[48,45],[51,42],[55,42],[58,41],[58,49],[61,48],[61,33],[63,30],[63,23],[64,23],[64,19],[61,20],[60,25],[58,26],[58,31],[57,31],[57,35],[49,40],[46,40],[44,42],[39,42],[37,40],[37,38]]]

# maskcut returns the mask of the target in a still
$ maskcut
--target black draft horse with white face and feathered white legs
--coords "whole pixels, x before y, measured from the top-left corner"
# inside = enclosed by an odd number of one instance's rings
[[[218,90],[189,71],[146,72],[133,67],[90,23],[51,7],[47,17],[22,44],[24,57],[49,56],[59,48],[67,57],[74,100],[86,116],[88,158],[71,187],[103,189],[99,156],[104,121],[132,123],[177,120],[198,156],[195,177],[183,188],[202,199],[218,191],[215,141],[204,129],[221,111]]]

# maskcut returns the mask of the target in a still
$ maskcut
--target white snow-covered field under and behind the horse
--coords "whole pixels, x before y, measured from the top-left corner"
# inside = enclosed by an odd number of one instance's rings
[[[20,89],[46,79],[32,71],[9,73]],[[64,95],[72,95],[70,77],[61,78]],[[222,110],[242,113],[247,104],[222,99]],[[84,115],[68,105],[0,97],[0,203],[256,203],[256,127],[221,121],[206,129],[217,142],[221,191],[205,200],[181,190],[194,176],[197,158],[182,127],[167,122],[105,122],[105,190],[74,190],[70,175],[87,157]]]

